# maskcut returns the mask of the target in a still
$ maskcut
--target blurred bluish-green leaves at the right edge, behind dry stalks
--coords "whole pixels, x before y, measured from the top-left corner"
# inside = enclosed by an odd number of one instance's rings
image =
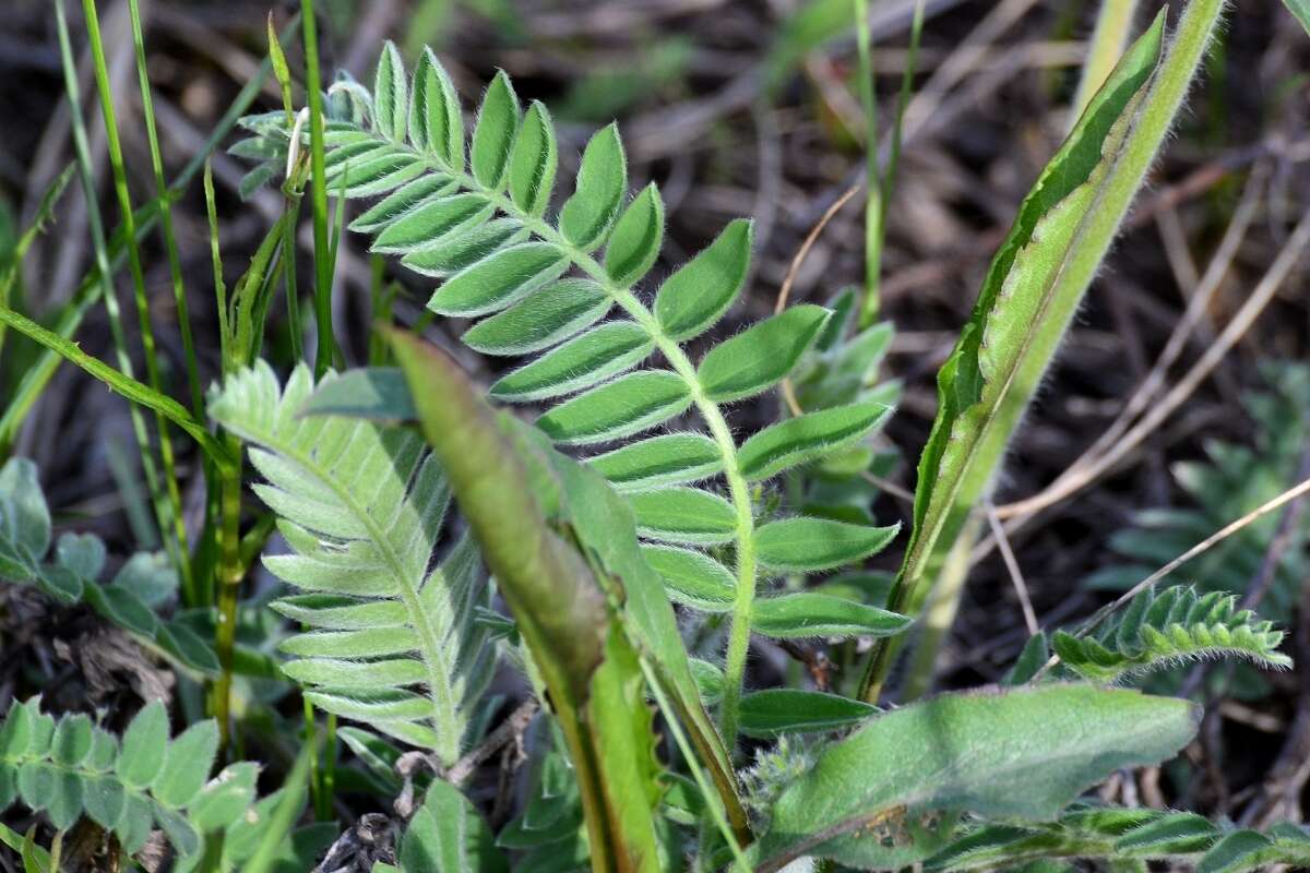
[[[1247,391],[1243,403],[1255,423],[1255,445],[1210,441],[1209,462],[1187,461],[1172,467],[1174,479],[1195,501],[1195,508],[1146,509],[1133,526],[1116,533],[1111,548],[1129,559],[1098,571],[1087,585],[1120,590],[1145,579],[1161,564],[1183,554],[1234,518],[1290,488],[1310,440],[1310,366],[1267,363],[1262,366],[1265,391]],[[1281,513],[1243,527],[1183,567],[1203,592],[1243,592],[1256,580],[1279,534]],[[1301,580],[1310,573],[1310,513],[1289,531],[1292,539],[1273,567],[1273,577],[1260,611],[1286,622],[1296,609]]]

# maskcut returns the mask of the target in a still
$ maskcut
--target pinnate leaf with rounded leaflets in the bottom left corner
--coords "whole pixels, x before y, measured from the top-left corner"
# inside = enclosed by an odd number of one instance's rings
[[[237,763],[208,780],[219,730],[200,721],[169,739],[164,704],[147,704],[122,743],[85,715],[54,719],[41,699],[14,703],[0,726],[0,810],[16,800],[64,831],[86,815],[130,855],[159,826],[182,857],[202,836],[237,822],[255,794],[258,767]]]

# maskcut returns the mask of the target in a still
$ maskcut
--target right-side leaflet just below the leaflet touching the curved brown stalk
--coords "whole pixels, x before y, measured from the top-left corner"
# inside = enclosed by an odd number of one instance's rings
[[[768,427],[741,444],[738,454],[748,480],[776,476],[790,467],[828,457],[880,427],[892,410],[876,402],[807,412]]]

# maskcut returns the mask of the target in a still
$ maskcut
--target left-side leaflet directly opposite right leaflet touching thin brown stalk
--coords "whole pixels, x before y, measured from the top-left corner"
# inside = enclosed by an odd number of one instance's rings
[[[561,403],[537,419],[537,427],[565,445],[604,442],[663,424],[690,404],[683,377],[641,370]]]

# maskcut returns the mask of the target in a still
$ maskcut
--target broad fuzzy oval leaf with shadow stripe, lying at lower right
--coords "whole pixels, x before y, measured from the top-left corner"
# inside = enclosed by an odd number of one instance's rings
[[[1087,685],[910,704],[827,746],[783,789],[756,869],[776,873],[803,855],[865,870],[908,866],[941,848],[951,818],[942,810],[1052,819],[1120,767],[1172,757],[1199,719],[1186,700]]]

